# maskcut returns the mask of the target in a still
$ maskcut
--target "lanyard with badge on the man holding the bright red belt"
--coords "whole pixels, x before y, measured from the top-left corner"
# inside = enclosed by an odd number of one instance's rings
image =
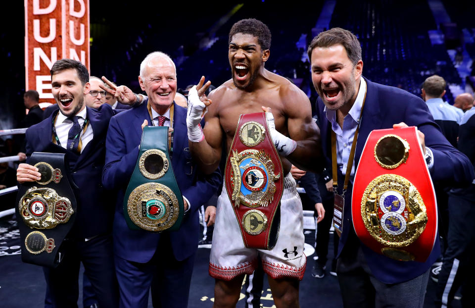
[[[346,165],[345,181],[343,183],[343,191],[341,195],[338,195],[338,193],[336,192],[336,189],[338,187],[338,181],[337,181],[338,170],[337,170],[337,164],[336,164],[336,134],[332,130],[332,179],[333,179],[333,196],[334,196],[333,227],[335,228],[335,231],[338,234],[338,236],[341,236],[341,233],[343,232],[343,210],[345,207],[345,192],[346,192],[346,189],[348,188],[351,168],[353,167],[353,160],[355,158],[356,141],[358,140],[358,132],[360,130],[361,117],[363,115],[363,107],[365,106],[365,101],[366,101],[366,92],[365,92],[365,97],[363,99],[363,103],[361,104],[360,117],[359,117],[358,125],[356,126],[355,136],[353,137],[353,142],[351,144],[351,151],[350,151],[350,156],[348,157],[348,163]],[[335,112],[335,117],[336,117],[336,112]]]

